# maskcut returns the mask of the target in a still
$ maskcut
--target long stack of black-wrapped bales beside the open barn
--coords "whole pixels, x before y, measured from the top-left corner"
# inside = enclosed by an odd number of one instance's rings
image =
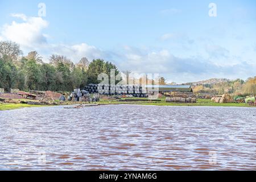
[[[130,95],[133,97],[148,97],[148,94],[140,85],[89,84],[85,86],[85,90],[90,94],[99,93],[105,96]]]

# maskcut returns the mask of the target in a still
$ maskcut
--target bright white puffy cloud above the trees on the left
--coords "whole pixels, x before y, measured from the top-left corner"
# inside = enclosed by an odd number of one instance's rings
[[[41,17],[24,14],[11,14],[11,16],[22,20],[22,22],[13,21],[11,24],[3,25],[0,40],[18,43],[25,54],[30,51],[38,51],[46,62],[51,54],[65,55],[74,62],[79,61],[81,57],[93,60],[106,56],[106,53],[100,49],[86,43],[74,45],[48,43],[49,35],[44,34],[44,30],[49,23]]]

